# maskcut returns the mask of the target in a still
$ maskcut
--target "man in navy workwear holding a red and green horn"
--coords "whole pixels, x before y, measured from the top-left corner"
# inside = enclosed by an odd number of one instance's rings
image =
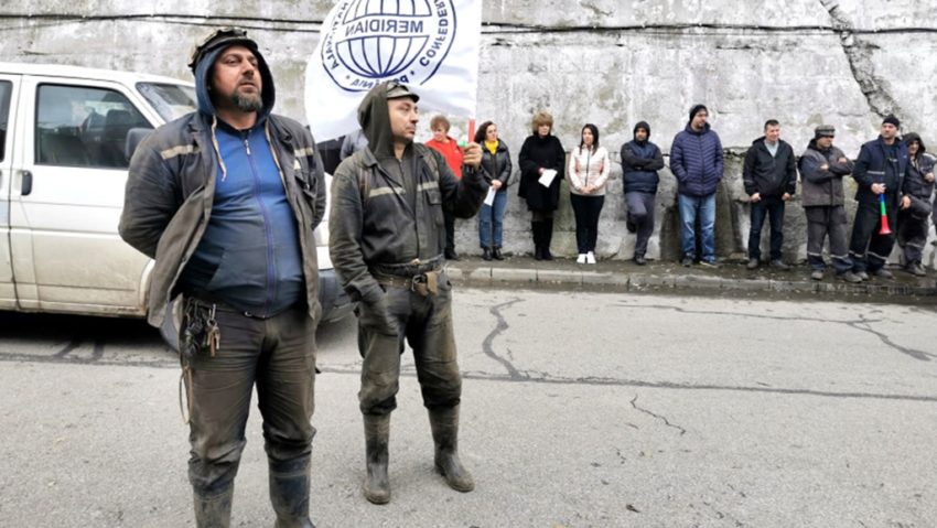
[[[852,271],[862,280],[869,280],[870,274],[882,279],[894,277],[885,263],[895,245],[895,235],[891,230],[881,233],[881,207],[884,204],[891,227],[896,224],[897,209],[911,205],[911,198],[902,193],[909,164],[907,147],[897,139],[900,127],[895,116],[886,117],[879,139],[862,146],[852,172],[859,184],[855,192],[859,205],[852,224],[849,256],[852,258]]]

